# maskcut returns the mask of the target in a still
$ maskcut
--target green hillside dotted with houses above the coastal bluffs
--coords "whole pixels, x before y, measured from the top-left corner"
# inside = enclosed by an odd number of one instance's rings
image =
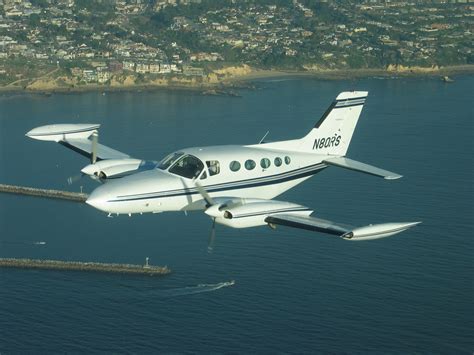
[[[75,0],[70,4],[50,0],[0,4],[1,84],[38,77],[57,62],[68,70],[100,66],[102,71],[112,62],[130,62],[128,71],[152,64],[152,74],[160,65],[167,66],[166,74],[171,66],[174,72],[185,66],[208,72],[224,63],[284,70],[474,63],[473,19],[465,4],[397,0],[183,0],[175,5],[164,0]],[[149,70],[140,68],[140,75]]]

